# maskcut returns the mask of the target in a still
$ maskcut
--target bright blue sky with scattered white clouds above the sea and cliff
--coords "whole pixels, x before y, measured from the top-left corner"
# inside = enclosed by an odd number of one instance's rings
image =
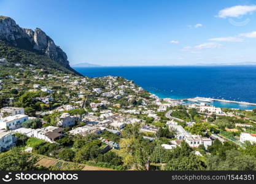
[[[256,0],[0,0],[0,12],[41,28],[71,64],[256,62]]]

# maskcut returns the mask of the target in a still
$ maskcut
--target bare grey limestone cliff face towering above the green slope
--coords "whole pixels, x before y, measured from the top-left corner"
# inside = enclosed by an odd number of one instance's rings
[[[39,28],[34,31],[20,28],[12,18],[0,16],[0,39],[15,47],[44,53],[62,66],[70,68],[66,53]]]

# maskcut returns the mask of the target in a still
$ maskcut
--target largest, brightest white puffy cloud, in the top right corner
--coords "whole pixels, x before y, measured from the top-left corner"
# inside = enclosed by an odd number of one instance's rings
[[[219,18],[227,18],[227,17],[239,17],[241,15],[247,15],[248,13],[252,13],[256,11],[256,5],[251,6],[232,6],[226,9],[220,10]]]

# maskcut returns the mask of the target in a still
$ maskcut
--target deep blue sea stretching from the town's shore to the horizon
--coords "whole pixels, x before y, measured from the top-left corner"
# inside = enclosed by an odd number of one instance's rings
[[[74,68],[88,77],[121,76],[160,98],[227,99],[256,103],[256,66],[148,66]],[[256,106],[212,102],[216,107]]]

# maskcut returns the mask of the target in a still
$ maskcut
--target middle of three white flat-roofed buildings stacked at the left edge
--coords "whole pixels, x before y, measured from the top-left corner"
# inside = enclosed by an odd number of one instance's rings
[[[28,120],[27,115],[18,114],[0,119],[0,129],[17,129],[21,127],[21,123]]]

